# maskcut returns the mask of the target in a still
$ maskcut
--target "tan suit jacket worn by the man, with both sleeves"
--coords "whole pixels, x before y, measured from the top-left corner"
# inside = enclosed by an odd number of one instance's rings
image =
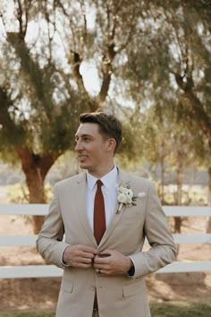
[[[145,195],[137,198],[136,206],[124,206],[119,214],[114,213],[99,245],[87,217],[86,173],[55,184],[54,198],[37,241],[38,252],[46,260],[63,267],[65,246],[85,244],[99,251],[118,250],[130,255],[135,263],[132,278],[101,276],[93,268],[63,268],[57,317],[91,317],[96,290],[99,317],[150,317],[144,277],[172,262],[176,249],[154,185],[121,170],[118,181],[130,184],[135,196]],[[144,253],[145,236],[151,248]]]

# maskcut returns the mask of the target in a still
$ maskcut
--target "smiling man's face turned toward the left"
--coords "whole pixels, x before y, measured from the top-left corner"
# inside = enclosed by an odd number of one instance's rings
[[[108,165],[109,141],[99,133],[98,124],[80,124],[75,141],[80,167],[88,169],[93,176],[100,176]]]

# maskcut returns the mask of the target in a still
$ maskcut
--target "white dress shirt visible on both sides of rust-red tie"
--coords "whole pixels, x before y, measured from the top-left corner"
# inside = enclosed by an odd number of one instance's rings
[[[109,173],[101,177],[103,183],[101,189],[104,195],[105,203],[105,224],[108,227],[112,216],[114,215],[116,201],[117,201],[117,176],[118,171],[115,166]],[[87,202],[87,215],[89,218],[89,225],[93,230],[94,221],[94,201],[97,191],[97,177],[92,176],[87,171],[87,189],[86,189],[86,202]]]

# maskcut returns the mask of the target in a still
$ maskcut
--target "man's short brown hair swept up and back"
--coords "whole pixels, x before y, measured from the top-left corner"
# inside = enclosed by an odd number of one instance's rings
[[[80,124],[98,124],[99,133],[114,138],[116,147],[114,152],[118,149],[122,141],[122,124],[113,115],[105,114],[104,112],[90,112],[81,114],[79,117]]]

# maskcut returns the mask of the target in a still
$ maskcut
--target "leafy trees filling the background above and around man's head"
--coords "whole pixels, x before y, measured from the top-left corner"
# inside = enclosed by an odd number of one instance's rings
[[[124,166],[148,160],[167,173],[180,148],[185,166],[210,165],[208,1],[12,2],[0,39],[3,159],[20,159],[22,149],[42,167],[48,159],[45,177],[73,149],[80,113],[105,109],[122,120]],[[86,64],[97,71],[94,92]]]

